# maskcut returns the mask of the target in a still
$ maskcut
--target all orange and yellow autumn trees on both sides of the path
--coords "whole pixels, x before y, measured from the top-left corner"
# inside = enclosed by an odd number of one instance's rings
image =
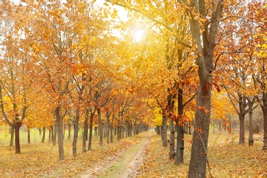
[[[242,144],[244,115],[252,118],[257,102],[266,148],[265,4],[107,0],[96,8],[94,3],[1,3],[1,111],[16,136],[21,125],[50,127],[55,116],[63,160],[62,123],[70,111],[73,148],[79,122],[86,136],[90,126],[90,144],[95,113],[99,144],[103,113],[107,125],[117,125],[118,139],[123,126],[153,118],[162,125],[164,147],[169,123],[170,157],[181,164],[183,127],[194,125],[189,177],[205,177],[211,116],[227,118],[236,110]],[[128,21],[118,21],[114,4],[129,10]],[[140,42],[133,39],[135,28],[145,31]]]

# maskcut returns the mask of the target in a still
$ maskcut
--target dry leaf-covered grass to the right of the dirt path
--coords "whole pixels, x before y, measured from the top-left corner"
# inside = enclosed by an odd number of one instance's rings
[[[255,136],[262,138],[262,136]],[[192,136],[185,136],[184,164],[174,165],[168,159],[168,148],[162,147],[160,136],[153,136],[142,166],[142,177],[187,177]],[[238,144],[238,133],[226,131],[209,136],[209,164],[213,177],[267,177],[267,151],[262,150],[262,140],[254,147]],[[207,177],[210,177],[207,171]]]

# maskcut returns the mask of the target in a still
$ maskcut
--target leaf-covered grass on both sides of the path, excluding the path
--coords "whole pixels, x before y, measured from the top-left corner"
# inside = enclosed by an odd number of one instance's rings
[[[72,131],[73,132],[73,131]],[[72,155],[71,140],[64,140],[65,160],[58,161],[58,145],[53,146],[47,140],[40,143],[42,136],[38,130],[31,131],[31,144],[27,144],[27,132],[21,132],[21,154],[15,154],[14,147],[9,147],[8,132],[0,127],[0,175],[1,177],[79,177],[107,157],[120,151],[132,153],[145,134],[107,144],[99,147],[99,140],[93,136],[92,151],[81,153],[81,133],[77,144],[78,155]],[[66,132],[67,133],[67,132]],[[46,135],[48,137],[48,134]],[[65,137],[66,138],[66,137]],[[248,138],[246,136],[246,138]],[[248,142],[238,144],[238,133],[227,131],[210,133],[209,135],[209,165],[213,177],[267,177],[267,151],[262,150],[262,136],[255,136],[254,146]],[[149,140],[149,147],[144,157],[144,165],[140,169],[140,177],[187,177],[192,136],[185,135],[184,163],[175,166],[174,160],[169,160],[168,147],[162,147],[160,136],[154,135]],[[5,143],[3,145],[3,143]],[[88,142],[87,142],[88,143]],[[133,147],[132,149],[129,149]],[[120,164],[114,169],[120,170]],[[207,172],[207,177],[209,173]]]

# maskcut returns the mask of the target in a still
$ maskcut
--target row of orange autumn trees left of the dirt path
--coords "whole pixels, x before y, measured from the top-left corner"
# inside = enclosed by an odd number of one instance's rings
[[[94,2],[60,1],[1,3],[1,114],[14,128],[20,153],[22,125],[55,125],[59,159],[64,160],[63,123],[73,122],[73,155],[79,123],[84,123],[83,151],[91,149],[92,127],[113,133],[148,127],[144,93],[138,76],[119,64],[116,27]],[[26,13],[27,12],[27,13]],[[110,13],[112,14],[112,13]],[[121,59],[123,60],[123,59]],[[94,120],[94,115],[97,120]],[[90,126],[88,148],[86,138]],[[112,142],[112,134],[110,134]]]

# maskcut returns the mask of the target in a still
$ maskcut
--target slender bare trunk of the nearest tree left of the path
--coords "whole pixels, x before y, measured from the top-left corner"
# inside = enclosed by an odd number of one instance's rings
[[[63,147],[63,120],[60,116],[60,107],[55,109],[55,123],[58,130],[58,154],[59,160],[64,160],[64,147]]]

